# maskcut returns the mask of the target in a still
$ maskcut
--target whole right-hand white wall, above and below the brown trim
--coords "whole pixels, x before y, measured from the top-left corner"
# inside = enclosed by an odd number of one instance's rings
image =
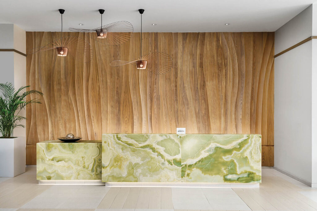
[[[275,54],[317,35],[317,4],[275,32]],[[275,58],[275,167],[317,185],[317,40]]]

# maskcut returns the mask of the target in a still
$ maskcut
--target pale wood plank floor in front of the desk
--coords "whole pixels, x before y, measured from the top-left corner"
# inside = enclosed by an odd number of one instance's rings
[[[274,169],[262,169],[260,188],[148,188],[38,185],[36,168],[0,178],[1,210],[317,210],[317,189]]]

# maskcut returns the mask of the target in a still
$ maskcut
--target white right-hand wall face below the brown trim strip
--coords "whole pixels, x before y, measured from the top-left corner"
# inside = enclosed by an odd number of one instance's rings
[[[312,181],[312,41],[275,58],[274,165]]]

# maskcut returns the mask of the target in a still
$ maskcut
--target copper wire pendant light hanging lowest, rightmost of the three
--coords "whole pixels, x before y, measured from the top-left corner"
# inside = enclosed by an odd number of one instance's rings
[[[142,55],[142,14],[144,13],[144,9],[139,9],[139,13],[141,14],[140,57],[133,61],[115,60],[110,63],[110,66],[117,67],[126,64],[135,64],[139,70],[146,69],[155,74],[165,74],[169,72],[173,66],[173,61],[169,54],[154,52]]]

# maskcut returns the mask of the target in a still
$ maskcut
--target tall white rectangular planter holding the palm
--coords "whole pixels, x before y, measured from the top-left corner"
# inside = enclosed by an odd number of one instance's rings
[[[25,137],[0,139],[0,177],[25,172]]]

